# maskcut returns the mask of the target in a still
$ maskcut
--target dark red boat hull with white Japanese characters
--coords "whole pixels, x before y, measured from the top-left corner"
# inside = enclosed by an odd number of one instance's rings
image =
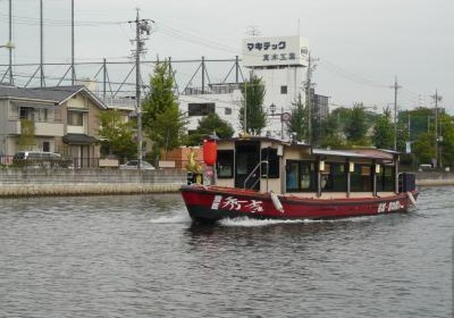
[[[182,187],[182,196],[191,218],[197,222],[249,217],[254,219],[332,219],[405,212],[411,206],[409,194],[364,198],[300,198],[278,196],[283,210],[278,210],[269,193],[192,185]],[[418,191],[412,191],[416,200]]]

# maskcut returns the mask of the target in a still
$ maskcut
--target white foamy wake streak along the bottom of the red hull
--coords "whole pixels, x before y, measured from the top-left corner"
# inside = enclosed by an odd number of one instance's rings
[[[376,218],[376,217],[375,217]],[[339,219],[250,219],[249,217],[237,217],[234,219],[222,219],[219,224],[222,226],[269,226],[276,224],[314,224],[334,222],[369,222],[374,216],[346,217]]]

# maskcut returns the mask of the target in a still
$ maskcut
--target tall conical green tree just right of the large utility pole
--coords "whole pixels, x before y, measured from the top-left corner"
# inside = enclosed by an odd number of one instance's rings
[[[154,157],[182,145],[186,117],[174,94],[175,80],[168,62],[157,62],[149,81],[149,94],[142,103],[142,125],[153,142]]]

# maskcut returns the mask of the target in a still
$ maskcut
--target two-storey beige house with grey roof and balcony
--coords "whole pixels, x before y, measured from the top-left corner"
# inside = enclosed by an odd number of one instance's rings
[[[107,109],[85,86],[21,88],[0,86],[0,153],[19,149],[22,120],[34,122],[36,143],[31,149],[73,157],[89,166],[99,157],[97,114]]]

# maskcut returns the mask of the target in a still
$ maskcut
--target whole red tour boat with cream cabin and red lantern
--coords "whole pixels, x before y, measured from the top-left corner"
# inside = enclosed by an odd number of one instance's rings
[[[414,175],[398,172],[399,154],[390,150],[321,150],[249,137],[209,140],[204,151],[214,165],[210,178],[182,187],[196,222],[354,217],[416,205]]]

